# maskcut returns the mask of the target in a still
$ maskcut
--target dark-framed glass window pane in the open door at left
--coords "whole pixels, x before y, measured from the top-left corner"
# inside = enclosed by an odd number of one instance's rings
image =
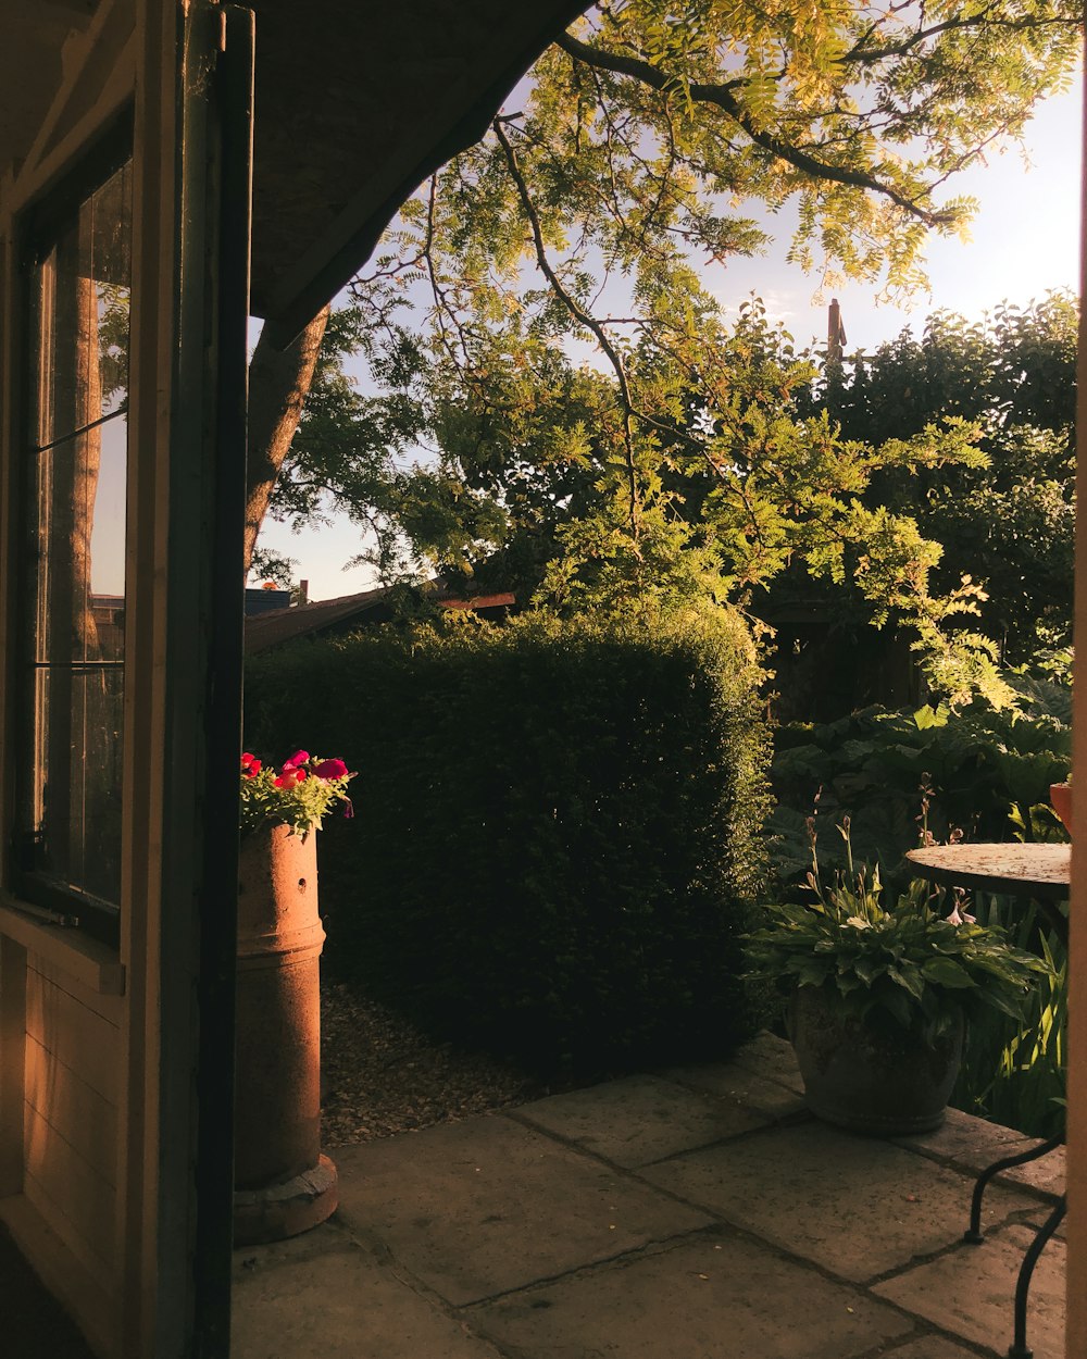
[[[22,867],[80,920],[121,898],[130,242],[129,162],[34,242],[29,277]]]

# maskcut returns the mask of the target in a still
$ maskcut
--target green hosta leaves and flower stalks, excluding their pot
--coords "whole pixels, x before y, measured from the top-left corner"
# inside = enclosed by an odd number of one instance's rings
[[[848,821],[841,829],[848,844]],[[827,887],[814,849],[813,866],[815,900],[765,906],[766,924],[749,935],[755,977],[826,989],[859,1018],[876,1011],[932,1038],[958,1010],[989,1006],[1020,1018],[1037,978],[1052,974],[1042,958],[1014,947],[999,927],[980,925],[958,902],[944,915],[943,889],[914,881],[885,905],[878,868],[870,881],[851,860]]]

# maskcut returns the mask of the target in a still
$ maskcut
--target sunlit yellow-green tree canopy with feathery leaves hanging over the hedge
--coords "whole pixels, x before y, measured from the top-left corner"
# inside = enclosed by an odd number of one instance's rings
[[[356,280],[273,512],[336,504],[386,575],[501,569],[560,610],[750,601],[799,561],[973,682],[985,646],[944,624],[977,587],[933,591],[939,545],[871,491],[981,467],[977,414],[852,438],[811,356],[757,304],[727,323],[717,292],[768,239],[745,207],[789,200],[794,260],[916,288],[928,234],[973,209],[954,175],[1077,52],[1064,0],[595,5]],[[344,375],[353,345],[376,394]]]

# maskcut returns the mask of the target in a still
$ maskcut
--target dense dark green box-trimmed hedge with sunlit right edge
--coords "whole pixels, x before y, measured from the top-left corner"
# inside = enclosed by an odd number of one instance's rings
[[[342,756],[326,962],[537,1070],[723,1056],[764,877],[742,621],[393,628],[250,660],[247,749]]]

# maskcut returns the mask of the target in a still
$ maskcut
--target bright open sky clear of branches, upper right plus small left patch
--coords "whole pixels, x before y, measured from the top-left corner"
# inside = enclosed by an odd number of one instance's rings
[[[1026,129],[1026,159],[1018,149],[993,154],[988,164],[972,167],[948,185],[948,197],[972,196],[980,209],[969,243],[932,238],[925,251],[931,294],[919,294],[902,307],[880,303],[878,285],[851,283],[833,289],[847,355],[875,349],[905,326],[920,333],[925,317],[938,308],[976,321],[1004,300],[1024,306],[1053,288],[1079,291],[1082,107],[1077,82],[1068,94],[1038,106]],[[787,215],[762,220],[776,238],[770,251],[713,266],[708,287],[730,311],[755,294],[799,345],[825,344],[832,289],[819,298],[819,280],[785,262]],[[266,520],[261,544],[296,561],[295,579],[308,582],[310,599],[353,594],[372,583],[367,568],[342,569],[361,548],[359,530],[346,518],[300,534]]]

